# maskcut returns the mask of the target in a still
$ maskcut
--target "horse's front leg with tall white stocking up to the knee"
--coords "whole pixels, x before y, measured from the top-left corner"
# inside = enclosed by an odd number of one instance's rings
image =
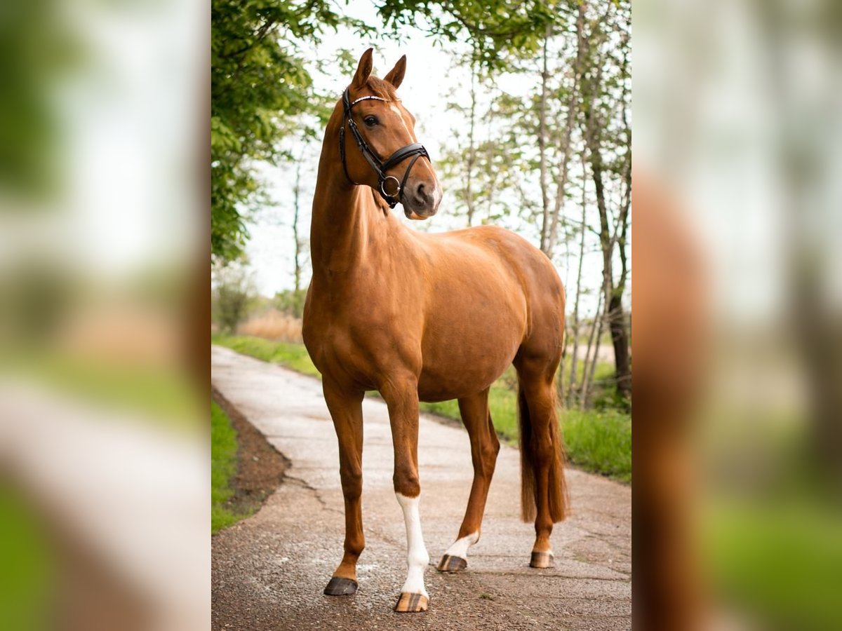
[[[392,443],[395,449],[395,495],[403,511],[407,527],[407,580],[401,588],[396,612],[423,612],[429,596],[424,588],[424,570],[429,554],[421,533],[418,502],[421,485],[418,482],[418,382],[416,379],[393,379],[381,389],[389,407]]]

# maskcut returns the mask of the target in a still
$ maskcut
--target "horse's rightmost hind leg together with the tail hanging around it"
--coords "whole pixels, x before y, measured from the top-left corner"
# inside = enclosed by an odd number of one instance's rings
[[[557,358],[530,356],[515,359],[518,371],[522,511],[525,521],[535,516],[536,541],[532,567],[552,567],[552,524],[567,511],[564,452],[558,428],[553,376]]]

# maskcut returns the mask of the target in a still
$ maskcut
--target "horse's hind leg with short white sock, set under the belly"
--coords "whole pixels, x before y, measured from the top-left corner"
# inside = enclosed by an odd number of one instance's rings
[[[479,541],[482,513],[485,512],[485,501],[488,498],[488,486],[491,485],[497,453],[500,450],[491,415],[488,413],[488,389],[477,395],[460,399],[459,412],[468,436],[471,438],[474,480],[465,518],[459,528],[459,536],[439,562],[441,572],[455,572],[467,566],[468,546]]]

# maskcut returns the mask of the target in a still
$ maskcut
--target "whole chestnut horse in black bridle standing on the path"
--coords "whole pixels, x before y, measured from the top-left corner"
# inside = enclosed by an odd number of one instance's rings
[[[499,450],[488,389],[510,363],[518,374],[522,517],[535,519],[530,565],[552,566],[552,524],[566,508],[553,387],[564,289],[549,259],[512,232],[424,234],[392,215],[398,202],[410,219],[434,215],[441,188],[395,93],[406,56],[383,79],[371,67],[369,49],[328,121],[312,209],[304,342],[322,373],[345,501],[344,556],[324,592],[357,589],[365,546],[362,400],[377,390],[388,406],[394,488],[407,527],[408,575],[395,608],[417,612],[428,604],[429,563],[418,515],[418,401],[457,399],[471,441],[465,518],[438,566],[457,571],[479,540]]]

